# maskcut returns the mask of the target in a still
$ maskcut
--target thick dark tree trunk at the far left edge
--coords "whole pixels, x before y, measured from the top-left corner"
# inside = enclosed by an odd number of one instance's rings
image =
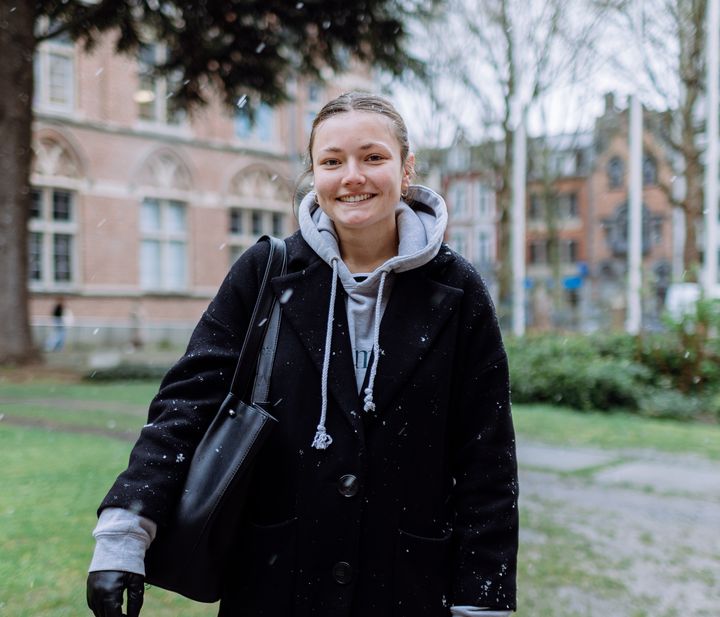
[[[0,363],[37,356],[27,289],[34,22],[34,2],[0,2]]]

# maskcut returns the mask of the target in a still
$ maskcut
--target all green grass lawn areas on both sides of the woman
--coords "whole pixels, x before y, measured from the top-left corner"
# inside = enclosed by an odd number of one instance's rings
[[[125,466],[129,441],[69,432],[94,426],[139,430],[157,383],[77,384],[0,382],[0,413],[51,420],[63,430],[0,422],[0,615],[61,617],[89,614],[86,568],[93,549],[95,508]],[[2,400],[12,399],[12,403]],[[22,399],[23,402],[17,401]],[[39,402],[41,401],[41,402]],[[43,402],[44,401],[44,402]],[[82,402],[82,409],[79,409]],[[108,410],[106,407],[112,407]],[[517,405],[518,434],[557,444],[602,448],[649,448],[720,459],[720,427],[638,418],[628,414],[576,413],[548,406]],[[551,610],[553,589],[571,585],[630,593],[611,578],[598,578],[578,563],[596,561],[593,547],[550,518],[521,512],[529,537],[521,545],[520,603]],[[602,580],[601,580],[602,579]],[[529,612],[527,612],[529,610]],[[196,604],[159,589],[146,594],[143,615],[202,617],[216,607]]]

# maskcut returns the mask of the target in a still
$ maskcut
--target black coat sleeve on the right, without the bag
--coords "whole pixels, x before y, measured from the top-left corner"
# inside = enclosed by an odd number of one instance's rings
[[[479,275],[465,285],[456,356],[452,603],[514,610],[518,484],[508,362]]]

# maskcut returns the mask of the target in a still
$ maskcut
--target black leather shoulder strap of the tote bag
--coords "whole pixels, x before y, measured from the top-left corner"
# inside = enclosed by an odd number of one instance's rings
[[[239,398],[244,398],[250,391],[250,384],[256,375],[260,375],[260,357],[263,359],[263,374],[265,381],[269,385],[270,371],[272,370],[272,359],[275,355],[275,342],[277,340],[277,331],[279,331],[280,306],[278,305],[275,294],[270,287],[270,280],[276,276],[282,276],[287,269],[287,248],[285,242],[272,236],[262,236],[258,242],[267,241],[270,244],[270,253],[268,254],[265,271],[260,281],[260,289],[258,297],[253,308],[252,316],[248,324],[245,340],[240,351],[235,374],[233,375],[230,392]],[[277,311],[274,309],[277,308]],[[275,314],[277,313],[277,314]],[[274,337],[272,341],[272,357],[268,357],[266,349],[260,354],[261,345],[265,339],[270,323],[274,323]],[[270,338],[270,337],[268,337]],[[268,341],[270,342],[270,341]],[[269,362],[269,367],[268,367]],[[253,402],[255,400],[255,392],[253,392]],[[267,396],[267,389],[264,394],[258,392],[263,398]]]

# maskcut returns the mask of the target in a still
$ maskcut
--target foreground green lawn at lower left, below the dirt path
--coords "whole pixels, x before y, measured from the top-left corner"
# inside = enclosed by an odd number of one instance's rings
[[[0,614],[89,614],[85,573],[95,509],[127,462],[130,443],[0,424]],[[209,616],[213,607],[158,589],[144,615]]]

